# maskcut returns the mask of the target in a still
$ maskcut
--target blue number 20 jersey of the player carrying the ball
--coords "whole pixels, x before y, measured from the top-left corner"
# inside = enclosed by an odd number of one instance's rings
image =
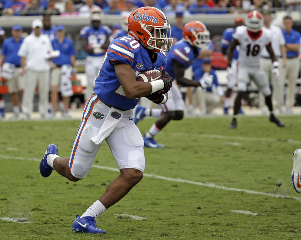
[[[122,86],[116,76],[114,63],[130,65],[136,75],[146,70],[159,70],[166,66],[165,52],[157,53],[157,60],[152,63],[148,52],[130,37],[114,39],[107,50],[105,60],[95,80],[94,92],[106,104],[115,107],[132,109],[139,102],[139,98],[130,99],[124,94]]]

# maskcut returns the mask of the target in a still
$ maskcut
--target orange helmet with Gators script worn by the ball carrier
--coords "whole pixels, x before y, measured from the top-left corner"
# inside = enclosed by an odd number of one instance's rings
[[[129,15],[129,35],[151,52],[168,52],[172,45],[171,26],[158,8],[142,7]]]

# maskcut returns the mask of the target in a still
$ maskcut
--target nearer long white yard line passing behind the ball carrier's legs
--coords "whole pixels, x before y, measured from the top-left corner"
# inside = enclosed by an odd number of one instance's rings
[[[30,161],[36,161],[36,162],[41,161],[41,159],[37,159],[37,158],[24,158],[24,157],[13,157],[13,156],[3,156],[3,155],[0,155],[0,158],[15,159],[15,160],[30,160]],[[110,170],[110,171],[114,171],[114,172],[119,172],[119,169],[111,168],[111,167],[107,167],[107,166],[92,165],[92,167],[98,168],[98,169]],[[145,177],[162,179],[162,180],[172,181],[172,182],[189,183],[189,184],[199,185],[199,186],[204,186],[204,187],[217,188],[220,190],[245,192],[245,193],[250,193],[250,194],[263,195],[263,196],[276,197],[276,198],[293,198],[295,200],[301,201],[300,197],[294,197],[294,196],[286,196],[286,195],[280,195],[280,194],[258,192],[258,191],[247,190],[247,189],[225,187],[225,186],[216,185],[214,183],[194,182],[194,181],[189,181],[189,180],[185,180],[185,179],[181,179],[181,178],[169,178],[169,177],[164,177],[164,176],[159,176],[159,175],[154,175],[154,174],[147,174],[147,173],[144,173],[143,175]]]

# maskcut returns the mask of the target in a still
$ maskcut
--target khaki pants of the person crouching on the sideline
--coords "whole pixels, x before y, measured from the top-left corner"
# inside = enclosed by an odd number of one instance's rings
[[[211,113],[214,108],[221,104],[220,97],[217,93],[208,92],[201,87],[197,87],[195,96],[198,96],[196,97],[196,102],[202,114]]]

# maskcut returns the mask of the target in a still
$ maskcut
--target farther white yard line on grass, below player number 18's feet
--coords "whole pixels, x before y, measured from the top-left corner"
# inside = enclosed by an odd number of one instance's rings
[[[189,137],[201,137],[201,138],[221,138],[221,139],[236,139],[236,140],[249,140],[249,141],[267,141],[267,142],[287,142],[287,143],[298,143],[301,141],[294,139],[280,139],[280,138],[256,138],[256,137],[240,137],[240,136],[227,136],[217,134],[202,134],[202,133],[164,133],[166,135],[175,136],[189,136]]]

